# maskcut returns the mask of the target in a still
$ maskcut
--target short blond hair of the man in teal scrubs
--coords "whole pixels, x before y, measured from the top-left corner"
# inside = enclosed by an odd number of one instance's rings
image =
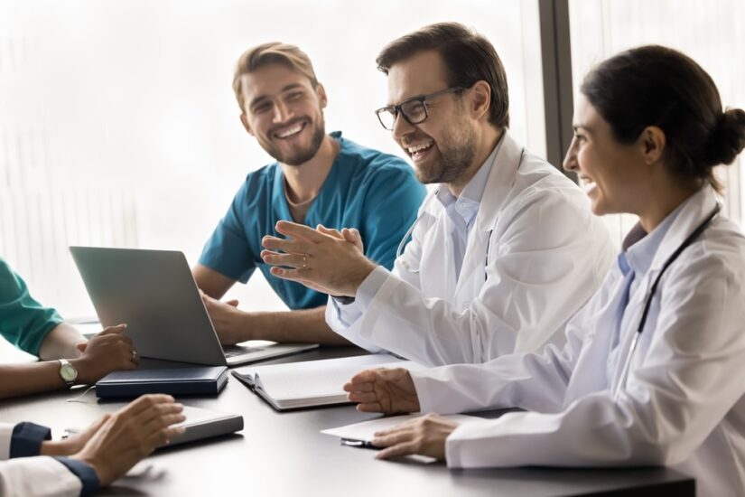
[[[313,65],[305,52],[288,43],[262,43],[243,52],[233,73],[233,91],[236,92],[238,107],[241,110],[243,110],[243,88],[240,77],[270,64],[283,64],[311,80],[313,88],[318,85]]]

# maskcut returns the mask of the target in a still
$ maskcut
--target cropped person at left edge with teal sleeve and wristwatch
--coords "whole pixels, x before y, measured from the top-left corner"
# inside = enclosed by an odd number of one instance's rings
[[[138,361],[126,325],[112,326],[87,341],[61,315],[33,299],[23,278],[0,258],[0,336],[42,361],[0,363],[0,399],[73,384],[95,383]]]

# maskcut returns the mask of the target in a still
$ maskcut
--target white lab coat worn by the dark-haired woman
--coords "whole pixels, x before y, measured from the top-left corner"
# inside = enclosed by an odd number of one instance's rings
[[[730,220],[715,218],[666,270],[625,388],[612,397],[649,286],[714,204],[709,187],[686,201],[647,274],[637,275],[618,356],[607,317],[623,285],[614,267],[567,324],[563,351],[413,372],[423,411],[538,411],[458,427],[446,442],[448,465],[669,465],[693,475],[700,495],[745,495],[745,237]]]

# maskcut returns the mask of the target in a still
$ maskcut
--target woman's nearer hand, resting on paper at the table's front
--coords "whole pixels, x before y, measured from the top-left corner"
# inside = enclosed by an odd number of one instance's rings
[[[457,427],[458,423],[436,414],[428,414],[379,431],[371,442],[377,447],[387,447],[377,453],[377,459],[421,454],[442,461],[445,459],[445,440]]]

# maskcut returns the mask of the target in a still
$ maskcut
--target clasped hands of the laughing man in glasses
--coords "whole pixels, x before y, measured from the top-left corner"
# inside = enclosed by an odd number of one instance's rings
[[[272,274],[331,295],[355,296],[357,288],[375,269],[365,258],[357,230],[313,230],[281,220],[276,230],[288,237],[265,236],[261,258]]]

